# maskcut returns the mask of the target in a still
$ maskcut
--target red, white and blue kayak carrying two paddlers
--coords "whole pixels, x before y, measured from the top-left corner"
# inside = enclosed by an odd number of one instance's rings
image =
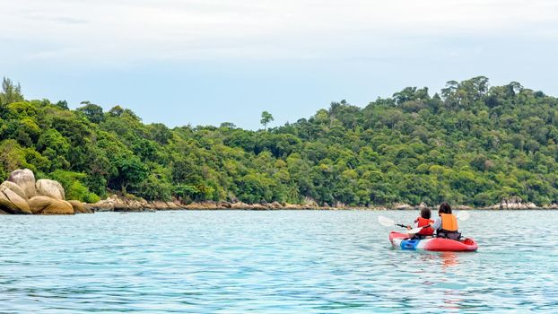
[[[474,252],[478,249],[473,239],[449,240],[444,238],[428,238],[423,240],[409,240],[407,233],[389,232],[389,240],[394,248],[424,249],[427,251]]]

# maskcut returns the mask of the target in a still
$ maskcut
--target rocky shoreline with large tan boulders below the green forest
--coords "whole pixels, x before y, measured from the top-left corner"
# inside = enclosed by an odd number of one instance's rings
[[[179,200],[171,202],[146,201],[137,196],[133,198],[109,196],[94,204],[83,203],[78,200],[65,200],[65,189],[51,179],[36,180],[29,169],[13,170],[8,179],[0,184],[0,214],[93,214],[95,212],[155,212],[168,210],[420,210],[431,208],[424,203],[413,206],[408,204],[394,204],[391,206],[347,206],[347,205],[318,205],[315,200],[306,197],[303,204],[289,203],[257,203],[204,201],[185,204]],[[456,205],[458,210],[472,210],[466,205]],[[475,209],[558,209],[558,205],[537,207],[533,203],[524,204],[521,199],[514,197],[503,199],[501,204],[488,208]]]

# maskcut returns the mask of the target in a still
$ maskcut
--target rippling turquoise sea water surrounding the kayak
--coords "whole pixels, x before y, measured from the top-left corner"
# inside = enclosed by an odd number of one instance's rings
[[[558,211],[471,214],[476,253],[391,249],[414,212],[0,216],[0,312],[558,312]]]

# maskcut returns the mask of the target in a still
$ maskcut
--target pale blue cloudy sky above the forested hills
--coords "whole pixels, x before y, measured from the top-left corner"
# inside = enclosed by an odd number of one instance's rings
[[[27,99],[257,129],[484,75],[558,95],[554,0],[0,0]]]

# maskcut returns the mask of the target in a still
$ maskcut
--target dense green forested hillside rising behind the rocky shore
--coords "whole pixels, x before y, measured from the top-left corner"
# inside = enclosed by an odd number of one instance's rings
[[[558,100],[480,76],[440,93],[407,87],[359,108],[344,100],[258,131],[144,124],[89,101],[24,100],[4,79],[0,178],[29,168],[68,198],[108,189],[148,200],[492,205],[558,200]],[[269,121],[267,121],[269,122]]]

